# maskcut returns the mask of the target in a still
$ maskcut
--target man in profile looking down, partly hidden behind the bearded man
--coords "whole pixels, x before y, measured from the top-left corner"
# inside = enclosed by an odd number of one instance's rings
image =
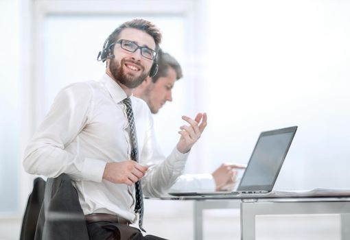
[[[159,112],[167,101],[172,101],[172,88],[183,77],[178,61],[159,49],[159,69],[154,77],[148,76],[134,91],[134,96],[143,99],[153,114]],[[246,165],[222,163],[213,173],[184,174],[178,177],[170,192],[178,191],[224,191],[235,186],[237,169]]]

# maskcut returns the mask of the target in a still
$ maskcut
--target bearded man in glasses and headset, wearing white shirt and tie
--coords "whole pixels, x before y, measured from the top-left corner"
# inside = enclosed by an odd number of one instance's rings
[[[139,213],[143,229],[138,196],[159,196],[174,184],[207,125],[205,113],[195,119],[183,116],[187,125],[180,127],[176,147],[167,158],[159,154],[150,110],[132,93],[156,73],[160,42],[159,29],[143,19],[117,27],[100,56],[106,74],[62,89],[25,149],[28,173],[71,177],[91,239],[143,239],[137,228],[128,226]]]

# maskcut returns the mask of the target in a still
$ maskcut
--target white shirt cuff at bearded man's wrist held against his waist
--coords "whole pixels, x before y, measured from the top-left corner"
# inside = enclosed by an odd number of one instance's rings
[[[84,167],[82,169],[82,179],[91,180],[94,182],[102,182],[106,164],[107,163],[103,160],[85,158]]]

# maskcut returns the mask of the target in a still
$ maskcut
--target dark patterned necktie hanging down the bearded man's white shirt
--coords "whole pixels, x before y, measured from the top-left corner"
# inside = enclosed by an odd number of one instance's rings
[[[126,115],[128,117],[129,130],[130,130],[130,142],[131,142],[131,153],[130,158],[139,161],[139,150],[137,149],[137,137],[136,137],[136,128],[135,128],[135,120],[134,120],[134,112],[132,112],[131,100],[130,97],[127,97],[123,100],[123,103],[126,106]],[[142,187],[141,180],[135,183],[135,191],[136,191],[136,204],[135,204],[135,213],[139,213],[139,227],[143,232],[145,230],[142,227],[143,221],[143,195],[142,195]]]

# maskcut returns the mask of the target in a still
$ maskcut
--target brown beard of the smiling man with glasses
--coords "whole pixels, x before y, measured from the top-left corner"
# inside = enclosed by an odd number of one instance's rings
[[[145,72],[144,68],[135,62],[132,62],[134,64],[137,64],[139,68],[141,69],[142,73],[139,76],[133,76],[130,74],[124,73],[124,69],[122,66],[124,66],[125,60],[121,60],[121,64],[117,62],[117,60],[110,61],[109,69],[110,73],[112,73],[115,81],[119,82],[120,84],[123,84],[124,86],[128,88],[137,88],[143,80],[146,79],[148,76],[148,73]]]

